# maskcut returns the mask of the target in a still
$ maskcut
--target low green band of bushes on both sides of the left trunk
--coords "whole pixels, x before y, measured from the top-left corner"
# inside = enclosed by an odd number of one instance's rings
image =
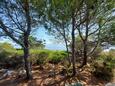
[[[67,57],[67,53],[64,51],[30,49],[30,57],[28,60],[30,60],[32,64],[41,65],[48,61],[58,63],[65,57]],[[4,65],[7,63],[13,67],[19,66],[23,63],[23,50],[16,50],[9,45],[5,45],[5,48],[3,47],[0,50],[0,61],[3,62]]]

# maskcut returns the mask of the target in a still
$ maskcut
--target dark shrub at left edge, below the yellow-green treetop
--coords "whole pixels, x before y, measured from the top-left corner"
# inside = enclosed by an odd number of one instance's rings
[[[21,56],[17,56],[15,53],[3,51],[0,53],[0,61],[1,61],[1,66],[3,68],[16,68],[17,66],[21,65],[23,62],[23,58]]]

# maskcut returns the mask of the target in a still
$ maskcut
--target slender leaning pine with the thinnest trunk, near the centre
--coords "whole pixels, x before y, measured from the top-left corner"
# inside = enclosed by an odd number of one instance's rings
[[[61,3],[61,4],[59,4]],[[69,14],[64,10],[64,6],[67,3],[64,0],[56,1],[52,0],[51,2],[48,3],[49,6],[47,7],[46,11],[46,20],[45,22],[45,28],[49,31],[49,33],[53,36],[56,37],[56,39],[61,40],[65,43],[66,46],[66,51],[68,53],[68,60],[69,60],[69,65],[70,63],[70,58],[69,58],[69,41],[70,41],[70,17]],[[57,9],[58,8],[58,9]]]

